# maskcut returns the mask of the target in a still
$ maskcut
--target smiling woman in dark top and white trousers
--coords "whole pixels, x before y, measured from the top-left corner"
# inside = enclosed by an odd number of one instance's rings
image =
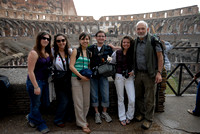
[[[135,88],[133,81],[132,47],[133,39],[130,36],[124,36],[121,40],[121,50],[112,54],[111,63],[116,64],[115,86],[118,97],[118,116],[121,125],[129,124],[134,117],[135,112]],[[124,88],[128,97],[128,109],[124,105]]]

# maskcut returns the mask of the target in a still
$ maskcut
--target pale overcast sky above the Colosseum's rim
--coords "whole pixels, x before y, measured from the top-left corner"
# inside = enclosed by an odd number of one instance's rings
[[[74,0],[79,16],[99,19],[108,15],[127,15],[198,5],[200,0]]]

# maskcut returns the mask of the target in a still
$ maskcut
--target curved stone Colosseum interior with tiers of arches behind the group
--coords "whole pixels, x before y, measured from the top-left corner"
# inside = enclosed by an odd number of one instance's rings
[[[51,35],[64,33],[74,48],[81,32],[88,32],[92,37],[90,44],[93,44],[94,34],[101,29],[107,33],[106,43],[119,45],[124,35],[136,37],[134,26],[139,20],[145,20],[151,33],[154,27],[161,39],[174,46],[168,53],[172,68],[185,63],[192,73],[199,71],[200,13],[197,5],[143,14],[102,16],[95,20],[93,16],[78,16],[73,0],[1,0],[0,73],[10,75],[5,68],[27,67],[28,52],[40,31],[48,31]],[[190,75],[186,74],[187,70],[183,72],[182,81],[188,83]]]

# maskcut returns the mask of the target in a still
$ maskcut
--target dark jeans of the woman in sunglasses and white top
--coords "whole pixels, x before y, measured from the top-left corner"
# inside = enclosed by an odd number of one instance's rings
[[[54,123],[64,123],[65,114],[67,112],[68,106],[68,95],[66,91],[56,90],[56,98],[58,100],[58,107],[56,110],[56,116],[54,118]]]

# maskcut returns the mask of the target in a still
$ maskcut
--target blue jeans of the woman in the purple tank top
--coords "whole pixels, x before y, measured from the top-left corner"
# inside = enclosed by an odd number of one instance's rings
[[[50,105],[49,101],[49,84],[48,81],[37,80],[37,83],[41,89],[40,95],[34,94],[34,86],[28,79],[26,81],[26,88],[30,97],[30,113],[28,115],[29,122],[35,124],[39,131],[47,128],[46,122],[42,119],[40,113],[40,105],[45,107]]]

